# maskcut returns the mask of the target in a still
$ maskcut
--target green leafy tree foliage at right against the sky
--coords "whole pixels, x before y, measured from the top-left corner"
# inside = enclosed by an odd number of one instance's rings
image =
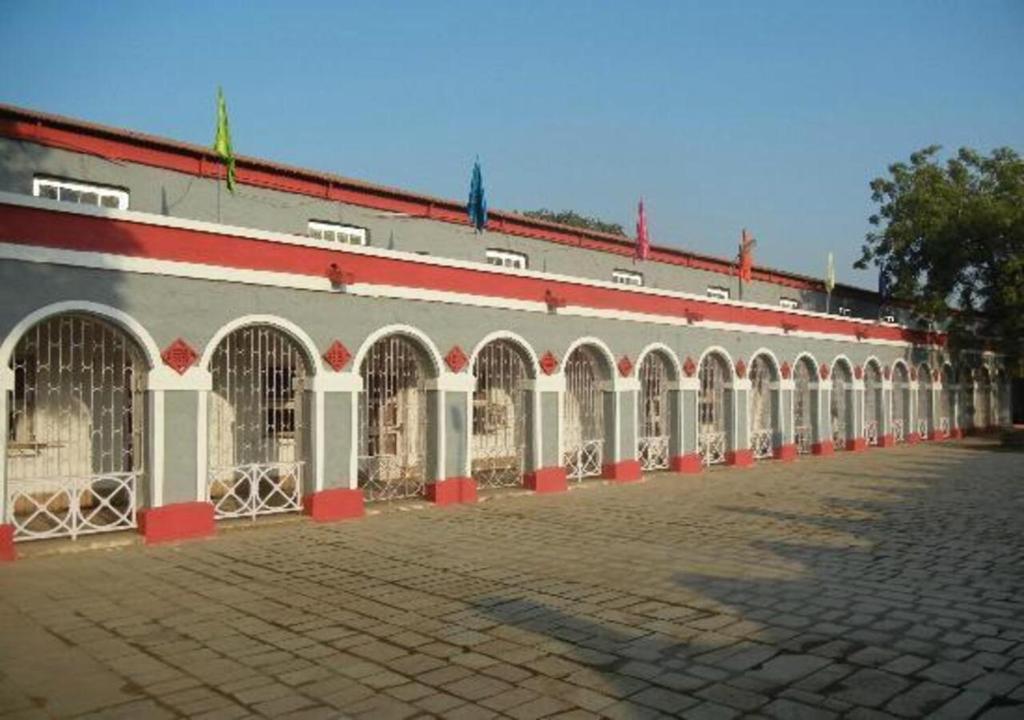
[[[860,268],[888,276],[891,297],[947,328],[953,348],[991,339],[1024,356],[1024,161],[1001,147],[961,149],[941,163],[939,146],[913,153],[871,181]]]

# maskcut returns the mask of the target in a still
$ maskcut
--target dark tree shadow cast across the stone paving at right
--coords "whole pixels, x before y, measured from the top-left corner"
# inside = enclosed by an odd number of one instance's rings
[[[994,491],[974,488],[970,460],[957,464],[908,459],[888,486],[836,471],[871,499],[827,498],[820,514],[720,507],[786,539],[750,542],[775,558],[768,566],[675,575],[694,598],[680,604],[616,608],[582,591],[579,603],[489,597],[478,611],[584,666],[566,679],[627,698],[623,716],[702,701],[791,717],[805,706],[1024,713],[1024,485],[993,503],[977,495]]]

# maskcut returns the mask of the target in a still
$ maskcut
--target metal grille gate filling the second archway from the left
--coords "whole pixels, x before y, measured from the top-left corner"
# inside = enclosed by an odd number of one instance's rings
[[[218,518],[301,508],[308,374],[298,343],[278,328],[228,334],[210,359],[207,495]]]

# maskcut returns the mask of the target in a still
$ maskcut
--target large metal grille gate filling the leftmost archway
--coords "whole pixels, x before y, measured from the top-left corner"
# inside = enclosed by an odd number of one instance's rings
[[[7,435],[7,521],[16,540],[135,526],[146,366],[122,331],[79,314],[17,342]]]

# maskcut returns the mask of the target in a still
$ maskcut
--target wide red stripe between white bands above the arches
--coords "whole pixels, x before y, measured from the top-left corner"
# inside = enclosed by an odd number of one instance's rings
[[[317,278],[325,278],[328,266],[337,263],[343,271],[352,273],[354,282],[372,285],[393,285],[535,302],[543,302],[545,293],[550,291],[568,305],[595,309],[830,333],[851,338],[861,336],[911,343],[925,343],[930,339],[926,333],[891,326],[855,324],[826,315],[809,316],[781,309],[738,307],[627,289],[521,278],[484,268],[445,267],[413,259],[358,255],[9,205],[0,206],[0,241]],[[945,343],[941,336],[932,339],[934,344]]]

